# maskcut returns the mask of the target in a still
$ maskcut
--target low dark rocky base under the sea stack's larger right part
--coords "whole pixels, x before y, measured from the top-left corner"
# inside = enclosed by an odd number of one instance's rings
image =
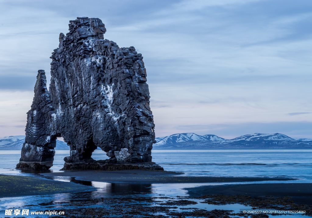
[[[112,163],[108,161],[94,161],[83,163],[65,163],[61,170],[162,170],[163,167],[155,162],[142,163]]]

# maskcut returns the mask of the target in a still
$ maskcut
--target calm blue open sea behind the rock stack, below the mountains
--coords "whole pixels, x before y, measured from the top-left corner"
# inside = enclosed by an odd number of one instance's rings
[[[67,150],[56,150],[51,170],[59,171]],[[192,176],[295,177],[296,182],[312,182],[312,150],[153,150],[153,161],[165,170]],[[106,159],[96,150],[92,157]],[[0,151],[0,173],[20,174],[14,170],[20,151]],[[294,182],[294,181],[291,181]]]

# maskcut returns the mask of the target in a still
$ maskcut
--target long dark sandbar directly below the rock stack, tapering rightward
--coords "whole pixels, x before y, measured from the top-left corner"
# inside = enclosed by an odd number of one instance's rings
[[[41,173],[43,176],[75,177],[93,182],[123,183],[211,183],[211,182],[257,182],[295,180],[285,177],[207,177],[181,176],[183,173],[147,170],[123,171],[65,171]]]

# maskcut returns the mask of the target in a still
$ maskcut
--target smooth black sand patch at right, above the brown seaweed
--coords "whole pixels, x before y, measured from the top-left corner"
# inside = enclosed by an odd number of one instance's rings
[[[312,205],[312,183],[233,184],[185,188],[190,197],[209,195],[290,197],[297,204]]]

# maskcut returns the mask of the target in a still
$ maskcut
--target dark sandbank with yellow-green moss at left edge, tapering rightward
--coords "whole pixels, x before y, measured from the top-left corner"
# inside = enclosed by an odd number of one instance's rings
[[[83,186],[72,182],[0,174],[0,198],[94,190],[96,190],[94,187]]]

